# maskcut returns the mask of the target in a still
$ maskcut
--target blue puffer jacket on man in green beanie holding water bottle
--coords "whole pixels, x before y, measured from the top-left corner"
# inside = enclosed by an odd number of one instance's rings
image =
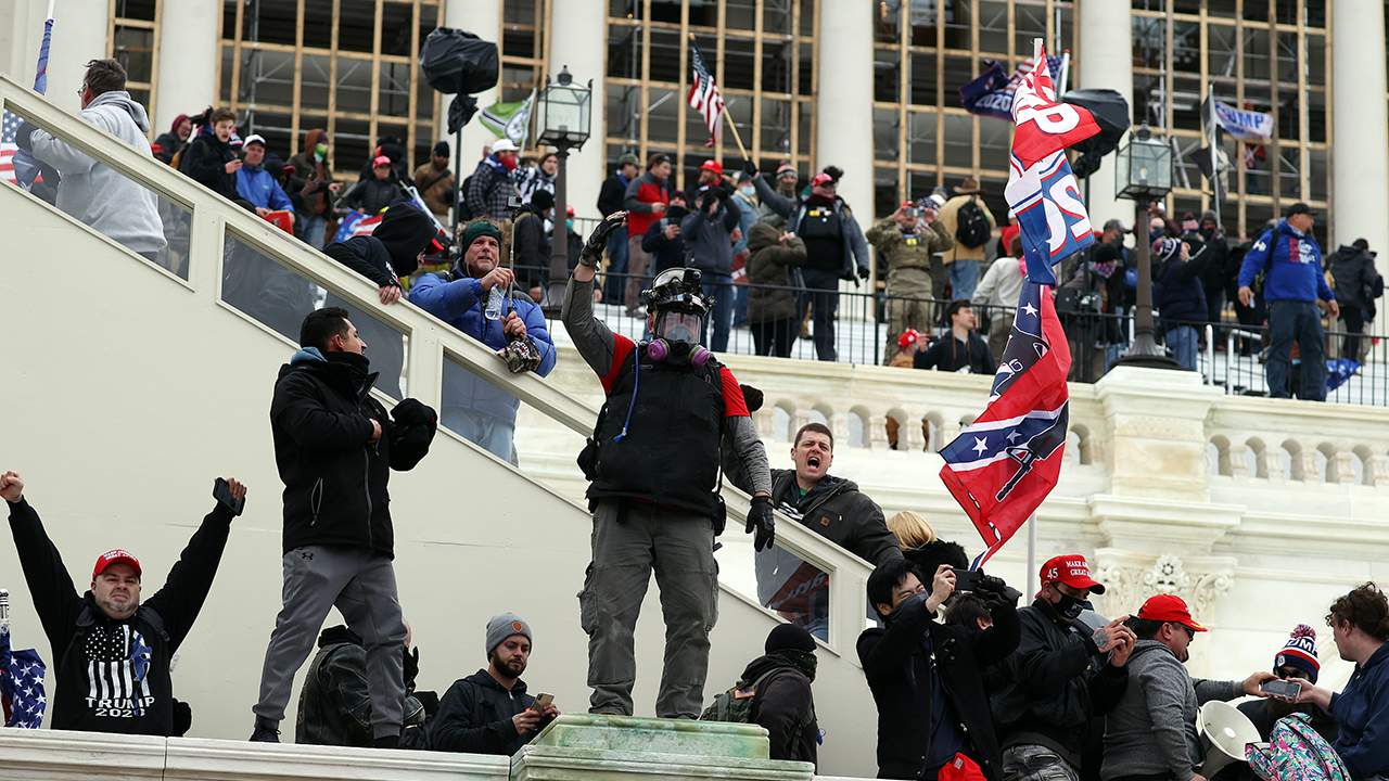
[[[482,282],[478,279],[456,274],[425,274],[410,288],[410,303],[493,350],[507,346],[501,320],[488,320],[482,314],[486,307],[486,296],[482,295]],[[556,352],[554,340],[544,324],[544,314],[521,290],[513,290],[511,307],[521,315],[526,336],[540,352],[540,367],[535,372],[540,377],[550,374],[554,370]],[[501,363],[499,361],[497,365],[500,367]],[[471,413],[493,416],[510,424],[515,422],[519,406],[515,396],[486,379],[474,378],[471,372],[465,371],[464,377],[467,378],[465,385],[457,382],[447,385],[447,393],[440,404],[444,410],[463,407]]]

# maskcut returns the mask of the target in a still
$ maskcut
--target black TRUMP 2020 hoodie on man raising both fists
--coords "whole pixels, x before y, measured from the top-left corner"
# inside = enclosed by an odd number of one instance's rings
[[[231,524],[231,511],[214,507],[169,570],[164,588],[142,600],[132,617],[114,621],[96,606],[90,591],[78,596],[33,507],[24,499],[10,504],[15,552],[53,649],[54,730],[174,735],[169,659],[213,588]],[[101,673],[96,680],[93,667]],[[90,696],[93,691],[96,696]]]

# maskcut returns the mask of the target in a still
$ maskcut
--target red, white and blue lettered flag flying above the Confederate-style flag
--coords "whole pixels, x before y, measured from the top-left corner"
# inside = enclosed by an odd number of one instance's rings
[[[1100,132],[1088,108],[1057,103],[1046,50],[1013,94],[1013,156],[1004,199],[1018,218],[1028,279],[1056,285],[1051,267],[1095,243],[1065,147]]]

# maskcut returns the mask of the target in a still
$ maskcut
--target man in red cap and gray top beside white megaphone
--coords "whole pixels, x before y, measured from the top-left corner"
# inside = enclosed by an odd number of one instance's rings
[[[1186,671],[1189,648],[1206,627],[1174,593],[1145,602],[1128,627],[1138,645],[1129,656],[1129,685],[1106,717],[1100,780],[1206,781],[1196,773],[1204,757],[1196,734],[1197,709],[1211,700],[1268,696],[1260,687],[1275,675],[1260,671],[1243,681],[1192,680]]]

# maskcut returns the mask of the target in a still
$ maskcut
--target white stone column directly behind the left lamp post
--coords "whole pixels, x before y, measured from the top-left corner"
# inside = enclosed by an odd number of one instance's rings
[[[597,200],[607,178],[607,3],[603,0],[564,0],[550,4],[550,75],[568,65],[574,82],[593,79],[589,140],[582,150],[569,153],[568,202],[578,217],[601,217]]]

